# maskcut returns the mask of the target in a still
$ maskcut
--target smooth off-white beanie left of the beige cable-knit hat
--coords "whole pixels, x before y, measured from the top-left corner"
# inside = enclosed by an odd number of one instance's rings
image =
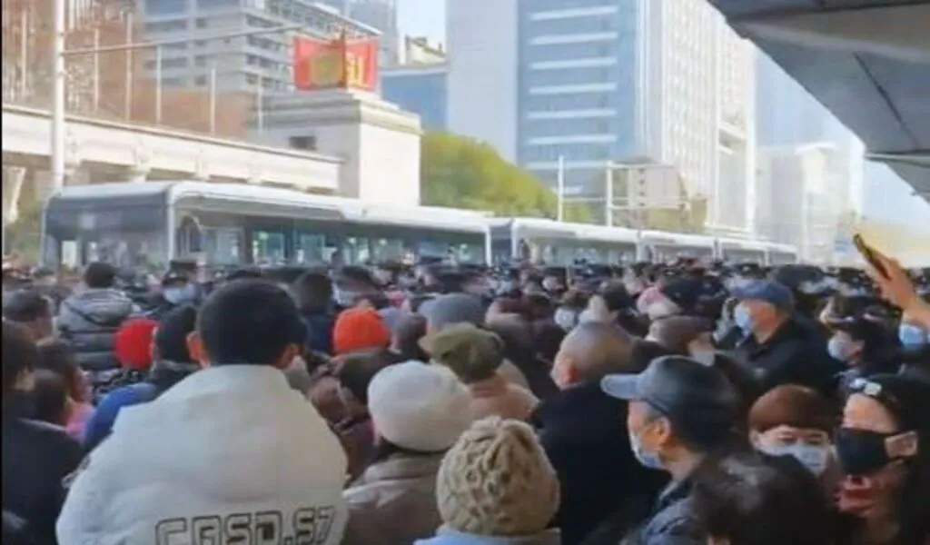
[[[422,362],[388,366],[368,385],[377,441],[405,451],[445,452],[472,423],[471,401],[451,371]]]

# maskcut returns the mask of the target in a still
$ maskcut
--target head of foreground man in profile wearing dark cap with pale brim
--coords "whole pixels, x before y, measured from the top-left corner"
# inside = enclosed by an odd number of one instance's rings
[[[680,476],[730,445],[739,401],[720,371],[684,356],[654,360],[639,375],[611,375],[604,393],[627,400],[633,454],[644,466]]]

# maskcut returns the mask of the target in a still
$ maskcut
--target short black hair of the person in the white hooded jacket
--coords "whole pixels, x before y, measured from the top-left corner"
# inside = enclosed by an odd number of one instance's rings
[[[278,363],[307,331],[294,299],[264,280],[237,280],[214,291],[197,317],[197,332],[212,366]]]

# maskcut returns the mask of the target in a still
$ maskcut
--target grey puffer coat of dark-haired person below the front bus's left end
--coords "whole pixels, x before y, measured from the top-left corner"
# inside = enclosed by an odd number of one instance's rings
[[[132,300],[121,291],[89,288],[61,303],[55,325],[61,338],[73,344],[81,368],[105,371],[119,367],[113,338],[136,311]]]

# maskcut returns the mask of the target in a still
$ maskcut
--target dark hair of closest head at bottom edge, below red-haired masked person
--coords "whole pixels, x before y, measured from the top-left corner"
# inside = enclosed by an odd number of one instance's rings
[[[692,479],[698,518],[733,545],[823,545],[833,536],[817,478],[793,459],[754,453],[702,464]]]

